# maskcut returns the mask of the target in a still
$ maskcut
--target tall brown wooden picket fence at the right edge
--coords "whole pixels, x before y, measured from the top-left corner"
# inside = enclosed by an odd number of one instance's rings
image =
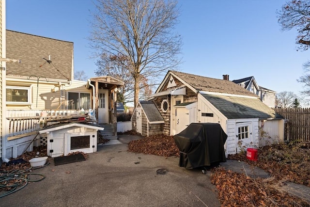
[[[275,108],[285,121],[284,136],[289,141],[310,141],[310,108]]]

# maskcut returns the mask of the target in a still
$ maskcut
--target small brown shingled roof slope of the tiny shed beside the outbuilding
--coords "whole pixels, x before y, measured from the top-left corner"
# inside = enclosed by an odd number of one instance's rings
[[[139,101],[139,103],[150,123],[164,123],[164,118],[161,116],[153,101]]]

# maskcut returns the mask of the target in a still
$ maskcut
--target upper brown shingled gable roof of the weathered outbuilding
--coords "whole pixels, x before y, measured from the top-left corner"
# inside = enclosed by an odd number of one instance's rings
[[[179,80],[183,80],[185,85],[189,85],[190,88],[193,88],[196,91],[252,96],[259,98],[257,95],[249,92],[245,88],[240,87],[230,80],[208,78],[178,71],[169,71],[165,80],[168,79],[170,75],[175,76]],[[157,89],[157,91],[160,90],[160,87]]]

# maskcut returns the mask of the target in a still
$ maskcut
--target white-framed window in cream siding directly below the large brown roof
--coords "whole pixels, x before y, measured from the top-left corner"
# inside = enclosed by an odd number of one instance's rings
[[[31,87],[6,86],[7,104],[31,104]]]

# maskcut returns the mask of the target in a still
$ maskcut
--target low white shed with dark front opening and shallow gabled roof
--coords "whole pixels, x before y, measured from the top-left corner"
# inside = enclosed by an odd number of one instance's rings
[[[68,123],[40,130],[47,134],[47,156],[66,156],[73,152],[93,153],[97,151],[97,131],[103,127],[94,124]]]

